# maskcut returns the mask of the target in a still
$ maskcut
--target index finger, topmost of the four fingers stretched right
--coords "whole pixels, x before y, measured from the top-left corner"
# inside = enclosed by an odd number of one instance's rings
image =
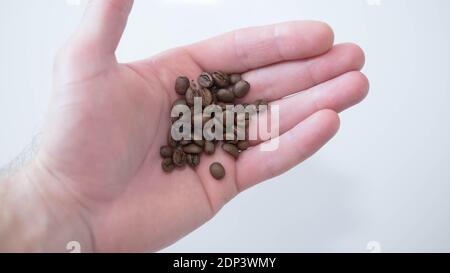
[[[294,21],[237,30],[188,46],[187,50],[204,70],[245,72],[323,54],[333,41],[333,31],[328,25]]]

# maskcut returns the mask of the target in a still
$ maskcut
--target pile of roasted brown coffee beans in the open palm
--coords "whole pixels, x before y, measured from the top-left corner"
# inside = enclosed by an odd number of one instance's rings
[[[169,131],[167,137],[167,145],[161,147],[160,154],[163,158],[162,169],[165,172],[172,172],[175,168],[183,168],[188,165],[191,168],[195,168],[200,164],[200,157],[202,154],[212,155],[216,150],[216,146],[221,142],[221,148],[232,156],[234,159],[238,159],[239,154],[250,147],[248,141],[247,132],[245,133],[244,140],[238,140],[237,135],[239,130],[237,129],[237,117],[236,113],[229,111],[227,106],[235,106],[236,99],[244,98],[250,91],[250,84],[241,78],[240,74],[228,75],[224,72],[216,71],[213,73],[203,72],[196,81],[191,81],[189,78],[180,76],[175,81],[175,92],[180,96],[172,107],[177,105],[185,105],[190,108],[192,116],[191,121],[193,123],[195,118],[194,113],[194,99],[201,98],[202,110],[208,106],[218,106],[223,111],[223,126],[224,137],[220,140],[213,139],[207,140],[203,134],[201,137],[194,138],[194,130],[190,132],[190,139],[181,139],[179,141],[174,140],[172,137],[172,131]],[[248,106],[249,104],[243,104]],[[255,109],[259,109],[260,105],[267,105],[264,100],[259,100],[253,103]],[[198,114],[198,113],[197,113]],[[200,113],[201,122],[205,125],[214,116],[205,115]],[[181,117],[172,117],[171,123],[174,124]],[[226,119],[234,119],[232,122],[233,129],[227,130]],[[248,129],[250,115],[245,115],[245,129]],[[229,122],[231,123],[231,122]],[[228,132],[227,132],[228,131]],[[226,172],[223,165],[219,162],[211,164],[210,173],[212,177],[220,180],[225,177]]]

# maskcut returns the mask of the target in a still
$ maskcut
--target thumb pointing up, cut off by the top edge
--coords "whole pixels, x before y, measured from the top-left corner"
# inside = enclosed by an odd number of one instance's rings
[[[116,63],[132,6],[133,0],[90,0],[80,26],[56,56],[55,84],[92,77]]]

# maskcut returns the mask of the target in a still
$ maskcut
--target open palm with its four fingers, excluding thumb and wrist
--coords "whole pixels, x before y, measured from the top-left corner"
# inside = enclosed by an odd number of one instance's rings
[[[285,34],[261,35],[276,33],[274,28]],[[245,39],[232,44],[239,33]],[[295,44],[299,33],[309,44]],[[83,60],[63,58],[59,66],[69,64],[71,69],[56,75],[54,118],[40,158],[89,211],[85,217],[96,248],[167,246],[206,222],[240,191],[281,174],[320,148],[338,122],[334,112],[323,109],[343,110],[367,91],[362,74],[347,73],[361,68],[360,51],[341,45],[327,52],[331,37],[323,25],[303,22],[227,34],[132,64],[117,64],[105,56],[89,71],[83,69]],[[289,46],[280,47],[283,43]],[[306,72],[305,68],[308,77],[293,73]],[[203,70],[216,69],[245,72],[253,86],[249,100],[266,98],[280,105],[280,114],[288,116],[280,124],[280,148],[264,154],[253,147],[238,165],[218,149],[213,156],[203,156],[195,171],[163,173],[159,147],[169,130],[175,78],[194,78]],[[286,80],[280,83],[280,78]],[[279,100],[301,90],[307,91]],[[209,174],[213,161],[227,170],[221,182]]]

